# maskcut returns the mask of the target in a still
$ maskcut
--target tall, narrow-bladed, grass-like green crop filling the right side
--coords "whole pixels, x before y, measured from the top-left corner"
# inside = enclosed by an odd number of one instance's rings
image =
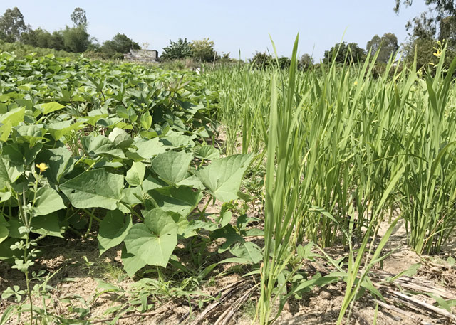
[[[440,48],[427,71],[399,70],[391,58],[374,76],[377,56],[368,55],[363,65],[333,60],[300,73],[296,48],[297,39],[288,73],[239,66],[205,77],[220,93],[229,152],[267,156],[259,324],[274,321],[274,302],[280,313],[295,290],[342,279],[340,324],[360,292],[381,298],[368,275],[398,220],[419,254],[440,252],[454,235],[456,60],[446,70]],[[303,240],[338,272],[286,289],[312,256]],[[345,261],[323,250],[340,244],[349,248]]]

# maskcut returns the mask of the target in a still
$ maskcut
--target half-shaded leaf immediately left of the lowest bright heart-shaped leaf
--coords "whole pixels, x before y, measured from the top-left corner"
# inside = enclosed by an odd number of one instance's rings
[[[108,211],[105,218],[101,220],[100,230],[98,230],[97,238],[100,256],[106,250],[122,243],[131,226],[130,215],[124,215],[119,210]]]

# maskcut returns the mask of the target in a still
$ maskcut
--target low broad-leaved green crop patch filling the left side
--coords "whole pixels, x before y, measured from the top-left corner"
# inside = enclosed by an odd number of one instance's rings
[[[229,211],[254,156],[219,150],[217,96],[198,75],[53,55],[0,62],[0,260],[24,272],[30,324],[30,270],[49,236],[96,230],[100,255],[121,245],[130,277],[167,267],[178,241],[192,252],[201,231],[231,238],[235,262],[261,260]],[[215,200],[221,211],[206,213]]]

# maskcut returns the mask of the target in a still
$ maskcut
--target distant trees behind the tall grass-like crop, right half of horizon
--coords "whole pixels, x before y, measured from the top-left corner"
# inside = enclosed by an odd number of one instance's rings
[[[402,55],[405,63],[411,64],[416,58],[418,68],[436,65],[446,46],[445,65],[450,65],[456,57],[456,3],[455,0],[424,0],[428,10],[408,21],[405,28],[408,30],[408,39],[401,44]],[[402,6],[411,6],[413,1],[395,0],[394,11],[398,13]],[[398,53],[400,45],[398,38],[393,33],[383,36],[375,35],[366,44],[366,49],[357,43],[341,42],[326,50],[321,63],[363,63],[368,53],[377,55],[376,66],[383,68],[390,58]],[[289,59],[279,58],[279,67],[287,68]],[[275,64],[268,53],[257,52],[250,60],[257,68],[266,68]],[[311,55],[305,54],[298,61],[298,67],[309,69],[314,66]]]

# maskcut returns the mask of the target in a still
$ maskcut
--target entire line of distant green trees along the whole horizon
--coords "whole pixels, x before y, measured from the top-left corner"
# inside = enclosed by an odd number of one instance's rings
[[[424,0],[429,10],[413,18],[405,26],[408,30],[408,40],[403,43],[402,49],[405,62],[411,63],[415,58],[418,68],[435,65],[440,59],[441,50],[447,46],[445,64],[456,55],[456,5],[454,0]],[[399,12],[402,6],[411,6],[410,0],[395,0],[395,12]],[[0,40],[6,42],[20,42],[39,48],[52,48],[65,50],[71,53],[90,53],[90,55],[105,59],[122,59],[130,49],[140,49],[138,43],[123,33],[117,33],[112,39],[98,43],[88,33],[88,21],[86,11],[81,8],[74,9],[70,15],[72,26],[52,33],[43,28],[31,28],[24,21],[24,16],[17,7],[6,9],[0,16]],[[377,65],[385,65],[390,58],[398,52],[400,46],[398,38],[393,33],[385,33],[383,36],[375,35],[366,44],[366,49],[357,43],[341,42],[326,50],[322,60],[328,63],[363,63],[368,53],[377,55]],[[219,54],[214,50],[214,41],[209,38],[202,40],[187,41],[187,38],[179,38],[170,41],[163,48],[162,60],[190,59],[197,63],[202,62],[231,62],[229,53]],[[269,53],[257,52],[249,60],[257,68],[267,68],[278,64],[279,68],[288,68],[290,59],[281,57],[273,59]],[[301,56],[297,62],[298,68],[306,70],[314,66],[314,59],[309,54]]]

